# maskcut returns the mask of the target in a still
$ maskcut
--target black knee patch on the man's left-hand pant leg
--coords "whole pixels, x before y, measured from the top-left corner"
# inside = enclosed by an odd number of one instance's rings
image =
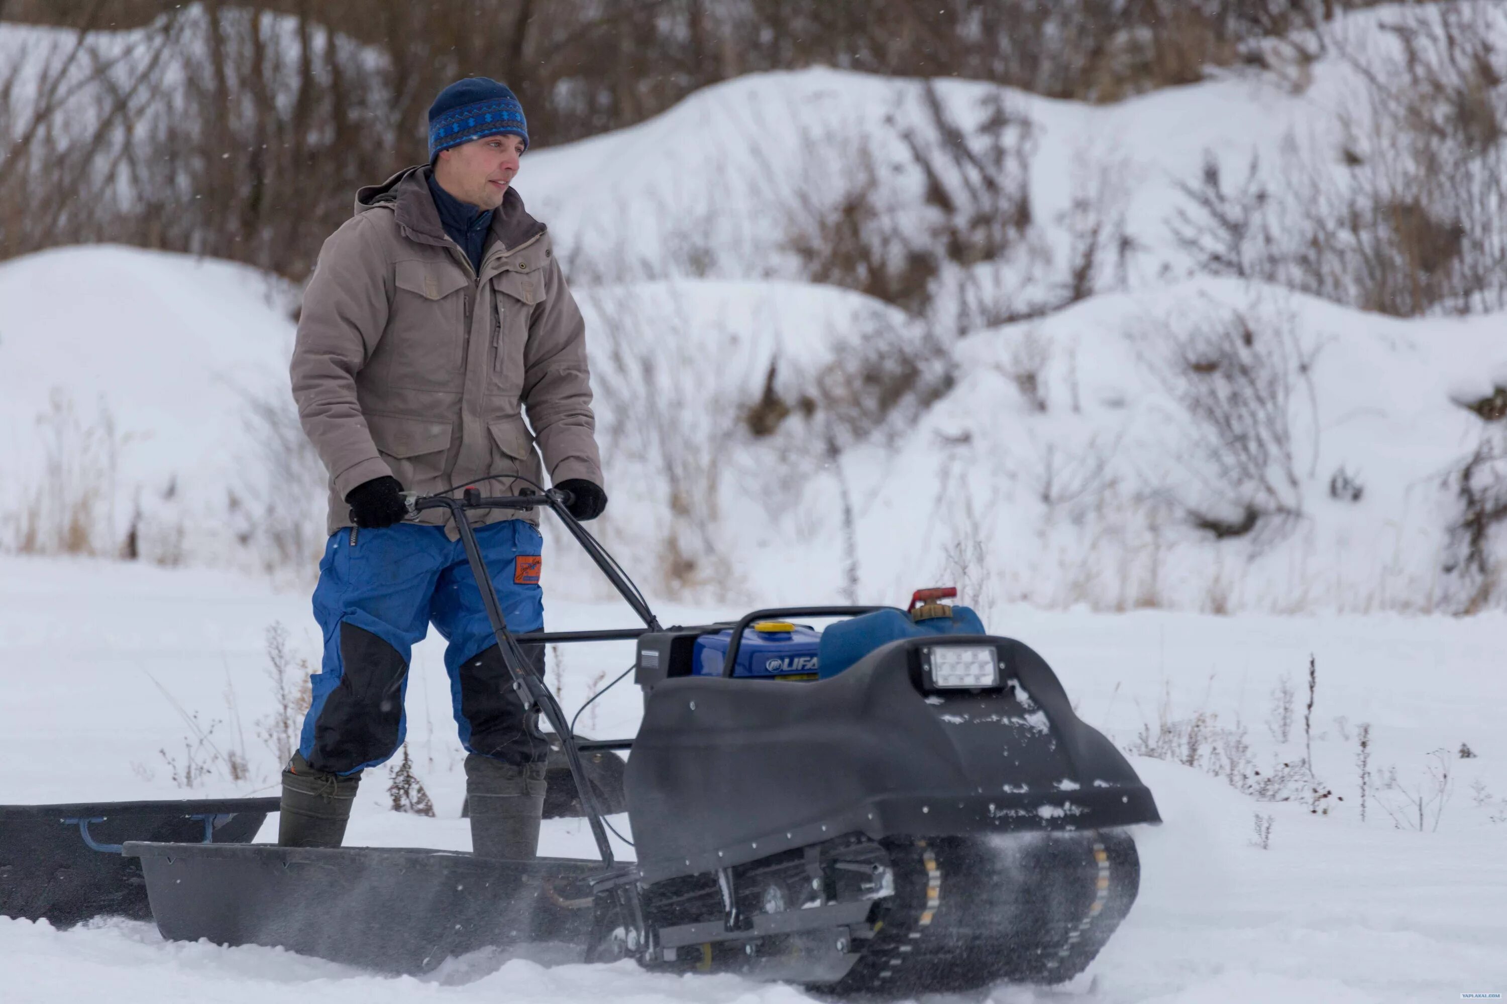
[[[408,674],[396,649],[351,623],[341,625],[341,661],[345,671],[319,709],[309,753],[309,766],[330,774],[348,774],[393,754]]]

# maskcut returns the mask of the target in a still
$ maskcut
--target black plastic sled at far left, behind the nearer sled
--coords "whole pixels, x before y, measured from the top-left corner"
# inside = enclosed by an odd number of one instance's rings
[[[92,917],[148,920],[130,840],[247,843],[276,798],[0,805],[0,917],[63,927]]]

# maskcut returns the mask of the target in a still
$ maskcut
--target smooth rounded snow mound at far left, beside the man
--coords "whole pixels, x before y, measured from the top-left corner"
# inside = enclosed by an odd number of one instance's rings
[[[42,251],[0,265],[0,530],[41,500],[93,491],[110,543],[136,513],[143,554],[223,561],[232,497],[271,473],[250,420],[288,399],[286,283],[244,265],[140,248]],[[0,533],[0,546],[5,546]],[[113,549],[113,548],[112,548]]]

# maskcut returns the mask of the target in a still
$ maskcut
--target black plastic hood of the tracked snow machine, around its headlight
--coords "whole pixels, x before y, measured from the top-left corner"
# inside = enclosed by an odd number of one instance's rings
[[[919,650],[992,644],[1002,686],[927,691]],[[687,676],[650,692],[625,772],[645,882],[836,837],[1160,822],[1046,662],[989,635],[907,638],[815,683]]]

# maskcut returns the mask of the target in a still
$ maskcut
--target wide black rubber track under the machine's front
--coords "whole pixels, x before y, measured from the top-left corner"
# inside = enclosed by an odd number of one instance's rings
[[[895,896],[848,974],[812,990],[910,996],[1062,983],[1094,960],[1139,887],[1123,831],[886,841]]]

